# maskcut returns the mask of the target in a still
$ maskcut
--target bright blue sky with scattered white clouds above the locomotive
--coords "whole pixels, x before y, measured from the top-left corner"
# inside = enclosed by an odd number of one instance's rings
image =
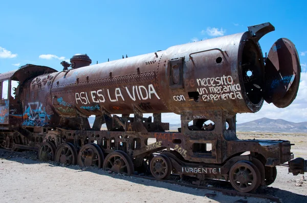
[[[276,30],[260,40],[262,51],[281,37],[296,44],[303,70],[298,99],[285,109],[266,104],[237,121],[307,121],[306,7],[306,1],[2,1],[0,72],[26,63],[61,70],[60,61],[76,53],[86,53],[93,63],[116,60],[271,22]],[[180,119],[165,115],[170,120]]]

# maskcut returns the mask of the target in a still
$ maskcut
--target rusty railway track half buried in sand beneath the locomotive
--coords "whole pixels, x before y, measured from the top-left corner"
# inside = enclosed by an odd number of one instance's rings
[[[14,156],[14,155],[20,155],[21,157],[24,158],[36,158],[36,154],[34,153],[25,153],[25,152],[18,152],[18,151],[10,151],[6,149],[0,149],[0,155],[3,155],[3,152],[6,153],[8,156]],[[169,184],[177,184],[180,186],[185,186],[185,187],[190,187],[190,188],[196,188],[196,189],[206,189],[206,190],[211,190],[211,191],[216,191],[216,192],[221,192],[224,195],[229,195],[229,196],[242,196],[242,197],[255,197],[255,198],[263,198],[263,199],[269,199],[273,202],[281,202],[281,200],[278,197],[270,196],[267,194],[256,194],[256,193],[245,193],[245,192],[238,192],[235,190],[231,189],[225,189],[225,188],[220,188],[220,187],[207,187],[207,186],[202,186],[202,185],[195,185],[193,184],[193,179],[192,178],[186,178],[184,182],[178,182],[170,179],[156,179],[150,176],[145,176],[145,175],[131,175],[133,177],[139,177],[139,178],[144,178],[144,179],[149,179],[151,181],[158,181],[158,182],[164,182],[164,183],[169,183]],[[177,177],[177,176],[176,176]],[[176,178],[175,175],[172,176],[173,179]],[[208,193],[208,196],[214,196],[214,193]]]

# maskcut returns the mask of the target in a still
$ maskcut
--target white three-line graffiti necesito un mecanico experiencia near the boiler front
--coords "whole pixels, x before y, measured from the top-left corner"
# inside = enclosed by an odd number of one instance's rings
[[[240,84],[235,83],[232,76],[198,78],[196,83],[203,101],[243,99]]]

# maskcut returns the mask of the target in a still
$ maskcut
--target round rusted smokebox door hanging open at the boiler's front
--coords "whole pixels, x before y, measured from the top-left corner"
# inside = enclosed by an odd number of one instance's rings
[[[265,66],[264,99],[279,108],[289,106],[295,99],[301,67],[294,44],[278,39],[270,49]]]

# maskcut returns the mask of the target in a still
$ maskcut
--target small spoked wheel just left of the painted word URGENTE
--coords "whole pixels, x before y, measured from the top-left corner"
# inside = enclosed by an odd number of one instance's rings
[[[171,173],[171,168],[170,159],[164,154],[153,157],[150,162],[150,172],[157,179],[167,178]]]

